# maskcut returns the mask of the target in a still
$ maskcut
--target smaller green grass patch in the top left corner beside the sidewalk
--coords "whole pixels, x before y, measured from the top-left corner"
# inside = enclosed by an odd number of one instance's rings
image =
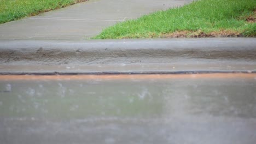
[[[14,21],[86,0],[0,0],[0,23]]]

